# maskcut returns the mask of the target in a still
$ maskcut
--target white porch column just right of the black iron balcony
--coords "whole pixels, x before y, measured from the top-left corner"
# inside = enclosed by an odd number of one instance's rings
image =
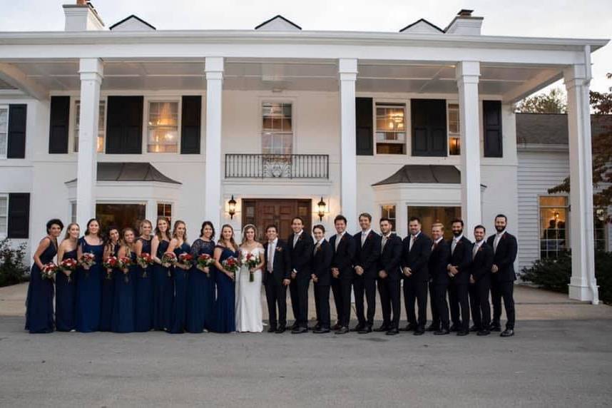
[[[357,228],[357,148],[355,146],[355,81],[357,59],[340,58],[340,208],[349,230]]]

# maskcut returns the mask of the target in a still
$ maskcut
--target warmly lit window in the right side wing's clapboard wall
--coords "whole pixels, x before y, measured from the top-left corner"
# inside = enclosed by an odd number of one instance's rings
[[[543,196],[540,204],[540,257],[559,257],[569,248],[567,233],[568,199]]]

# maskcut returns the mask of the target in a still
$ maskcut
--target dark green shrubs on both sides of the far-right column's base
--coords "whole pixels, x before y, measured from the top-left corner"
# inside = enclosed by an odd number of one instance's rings
[[[521,280],[555,292],[568,292],[571,277],[571,253],[556,259],[536,260],[531,267],[524,267]],[[599,299],[612,304],[612,253],[596,251],[595,277],[599,286]]]

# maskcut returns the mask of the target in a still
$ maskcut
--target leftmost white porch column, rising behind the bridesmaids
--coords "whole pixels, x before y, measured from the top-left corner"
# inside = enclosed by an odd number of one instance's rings
[[[96,215],[96,173],[98,166],[98,116],[103,64],[99,58],[81,58],[81,111],[78,123],[78,165],[76,171],[76,222],[85,230]]]

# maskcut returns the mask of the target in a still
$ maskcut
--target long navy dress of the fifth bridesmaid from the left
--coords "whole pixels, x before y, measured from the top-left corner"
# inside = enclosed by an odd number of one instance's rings
[[[134,307],[136,305],[136,253],[130,253],[134,265],[128,267],[129,272],[117,269],[113,272],[115,282],[115,297],[113,304],[113,319],[111,330],[116,333],[134,331]]]

